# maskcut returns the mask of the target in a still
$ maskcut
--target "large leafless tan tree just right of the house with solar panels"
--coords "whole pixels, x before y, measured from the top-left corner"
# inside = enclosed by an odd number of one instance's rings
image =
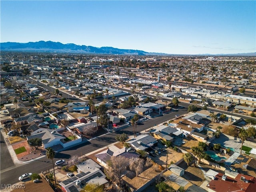
[[[129,165],[129,160],[124,156],[112,156],[107,164],[106,175],[120,188],[121,176]]]

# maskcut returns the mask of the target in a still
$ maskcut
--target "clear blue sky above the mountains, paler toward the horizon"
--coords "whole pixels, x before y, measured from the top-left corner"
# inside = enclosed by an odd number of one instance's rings
[[[256,52],[256,1],[5,1],[0,42],[168,54]]]

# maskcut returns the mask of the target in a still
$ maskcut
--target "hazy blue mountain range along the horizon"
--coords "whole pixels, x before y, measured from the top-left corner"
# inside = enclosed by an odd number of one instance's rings
[[[142,50],[118,49],[113,47],[94,47],[85,45],[76,45],[73,43],[62,44],[52,41],[38,41],[28,43],[4,42],[0,43],[2,51],[27,51],[27,52],[59,52],[59,53],[84,53],[84,54],[130,54],[130,55],[181,55],[165,54],[155,52],[145,52]],[[188,55],[188,54],[183,54]],[[200,54],[201,56],[217,56],[214,54]],[[256,56],[256,53],[239,53],[239,54],[218,54],[228,56]]]

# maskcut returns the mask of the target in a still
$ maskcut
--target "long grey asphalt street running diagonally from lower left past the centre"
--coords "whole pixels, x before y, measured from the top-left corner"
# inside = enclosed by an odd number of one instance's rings
[[[167,120],[174,118],[176,114],[181,115],[185,113],[187,113],[187,109],[183,108],[183,109],[180,109],[178,112],[171,112],[170,114],[164,114],[164,116],[152,118],[151,120],[143,122],[143,125],[138,125],[137,131],[140,132],[142,130],[145,130],[154,126],[154,124],[160,124],[162,122],[166,122]],[[116,139],[115,139],[116,134],[122,134],[122,132],[125,132],[128,135],[133,135],[133,128],[132,126],[129,126],[117,133],[105,134],[104,136],[100,136],[98,138],[90,140],[90,142],[86,142],[84,144],[62,151],[56,154],[56,158],[54,158],[54,162],[59,159],[67,160],[73,155],[82,156],[84,154],[88,154],[89,152],[98,150],[99,148],[104,148],[107,145],[113,142],[116,142]],[[26,172],[40,173],[43,170],[47,170],[51,168],[52,168],[51,160],[45,157],[40,160],[35,160],[33,162],[30,162],[29,164],[22,164],[22,165],[15,166],[14,168],[11,167],[11,168],[6,168],[4,170],[1,170],[0,182],[1,184],[14,184],[18,182],[18,177]]]

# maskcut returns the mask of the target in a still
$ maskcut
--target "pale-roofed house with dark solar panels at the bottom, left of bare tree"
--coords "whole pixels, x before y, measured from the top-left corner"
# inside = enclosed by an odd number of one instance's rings
[[[88,159],[77,166],[78,174],[60,182],[63,192],[80,192],[88,183],[96,183],[99,185],[106,184],[106,175],[100,170],[96,162]]]

